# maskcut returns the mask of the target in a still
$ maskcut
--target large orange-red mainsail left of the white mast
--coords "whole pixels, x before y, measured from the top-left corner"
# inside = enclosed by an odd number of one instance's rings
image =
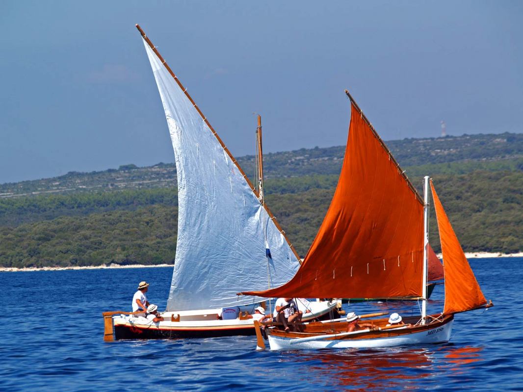
[[[303,263],[265,297],[422,295],[423,205],[361,113],[351,105],[333,200]]]

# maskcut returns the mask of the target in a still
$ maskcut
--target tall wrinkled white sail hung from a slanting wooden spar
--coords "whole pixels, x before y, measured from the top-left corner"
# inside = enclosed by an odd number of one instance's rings
[[[236,293],[280,286],[299,262],[217,137],[145,40],[144,45],[178,177],[178,238],[167,310],[263,301]]]

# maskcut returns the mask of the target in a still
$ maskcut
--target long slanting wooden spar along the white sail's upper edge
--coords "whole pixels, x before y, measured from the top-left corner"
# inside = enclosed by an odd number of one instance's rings
[[[149,47],[152,49],[152,51],[154,52],[154,54],[156,54],[156,56],[158,56],[158,59],[160,59],[161,63],[165,66],[167,72],[170,74],[170,76],[173,77],[173,79],[175,80],[175,82],[178,84],[178,86],[181,88],[181,90],[184,92],[185,96],[187,97],[187,99],[189,99],[189,101],[192,103],[192,105],[195,107],[196,111],[198,112],[198,114],[200,114],[200,117],[202,118],[202,120],[207,124],[207,126],[209,127],[209,129],[211,130],[212,134],[214,135],[214,137],[216,137],[216,139],[218,140],[218,143],[220,143],[220,145],[222,146],[223,148],[223,151],[225,151],[225,153],[227,155],[229,155],[229,157],[231,158],[231,161],[232,163],[236,166],[236,168],[238,169],[238,171],[240,171],[240,173],[242,174],[243,178],[245,179],[245,181],[247,181],[247,184],[249,185],[249,187],[251,188],[251,190],[254,192],[254,194],[257,196],[257,192],[253,186],[253,183],[251,182],[251,180],[249,180],[249,178],[247,177],[247,175],[245,174],[245,172],[243,171],[243,169],[241,168],[240,164],[238,164],[236,158],[234,158],[234,156],[231,154],[231,152],[229,151],[229,148],[227,148],[225,146],[225,144],[223,143],[223,141],[220,139],[220,136],[218,136],[218,133],[216,133],[216,131],[214,131],[214,128],[212,128],[212,125],[209,123],[209,120],[207,120],[207,117],[203,116],[203,113],[202,111],[200,110],[200,108],[198,107],[198,105],[196,105],[196,102],[192,99],[192,97],[189,95],[189,93],[187,92],[187,89],[181,84],[180,80],[178,79],[178,77],[174,74],[173,70],[170,69],[169,65],[167,64],[167,62],[164,60],[164,58],[162,57],[162,55],[160,54],[160,52],[158,52],[158,50],[156,49],[156,47],[154,46],[154,44],[151,42],[151,40],[149,39],[149,37],[146,36],[145,32],[142,30],[142,28],[140,27],[140,25],[136,25],[136,28],[138,29],[138,31],[140,31],[140,34],[142,34],[142,38],[144,39],[144,41],[147,43],[147,45],[149,45]],[[287,241],[287,244],[289,244],[289,247],[291,248],[292,252],[294,253],[294,256],[298,259],[298,261],[300,262],[301,264],[301,259],[300,259],[300,256],[298,255],[298,252],[296,251],[296,249],[294,249],[294,246],[291,244],[291,242],[289,241],[289,238],[287,238],[287,235],[285,234],[285,231],[283,231],[283,229],[281,228],[280,224],[278,223],[278,221],[276,220],[276,217],[272,214],[272,212],[269,210],[269,208],[267,207],[267,205],[265,203],[262,204],[265,211],[267,211],[267,214],[269,215],[271,221],[275,224],[276,228],[278,229],[278,231],[283,235],[283,238],[285,238],[285,240]]]

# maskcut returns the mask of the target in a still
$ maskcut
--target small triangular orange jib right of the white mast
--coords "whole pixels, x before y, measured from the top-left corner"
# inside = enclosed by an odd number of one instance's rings
[[[445,269],[445,306],[444,314],[465,312],[486,304],[480,285],[469,262],[461,249],[461,245],[450,225],[449,218],[439,201],[434,184],[430,181],[436,218],[438,220],[439,239],[443,254]]]

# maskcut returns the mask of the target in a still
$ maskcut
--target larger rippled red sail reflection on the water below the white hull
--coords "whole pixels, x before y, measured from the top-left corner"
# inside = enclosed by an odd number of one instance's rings
[[[306,363],[308,377],[318,382],[334,377],[335,384],[351,389],[397,390],[429,376],[432,356],[426,349],[375,349],[296,352],[292,359]]]

